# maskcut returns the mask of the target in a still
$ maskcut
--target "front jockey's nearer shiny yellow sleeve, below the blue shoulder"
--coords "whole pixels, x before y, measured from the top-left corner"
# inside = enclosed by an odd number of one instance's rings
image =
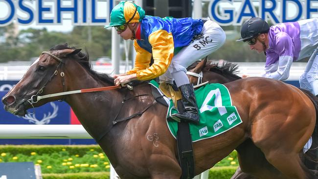
[[[148,40],[152,46],[154,63],[151,67],[136,72],[138,80],[150,80],[159,77],[166,72],[173,57],[174,42],[171,33],[165,30],[157,30],[150,34]]]

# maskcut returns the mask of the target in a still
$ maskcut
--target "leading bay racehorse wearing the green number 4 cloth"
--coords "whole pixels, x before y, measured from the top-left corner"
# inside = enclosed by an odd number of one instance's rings
[[[30,103],[37,107],[65,100],[122,179],[179,179],[176,140],[166,126],[167,108],[154,102],[149,84],[141,83],[134,90],[55,96],[34,103],[38,98],[33,95],[114,86],[113,78],[96,73],[89,64],[87,55],[80,50],[54,46],[40,55],[15,88],[2,98],[5,110],[24,115],[26,109],[32,108]],[[275,169],[255,174],[256,177],[317,178],[298,155],[314,131],[317,111],[313,96],[309,98],[291,85],[266,78],[250,77],[226,86],[243,123],[193,144],[195,173],[211,168],[250,138]],[[135,117],[123,120],[131,115]],[[121,122],[114,125],[114,121]]]

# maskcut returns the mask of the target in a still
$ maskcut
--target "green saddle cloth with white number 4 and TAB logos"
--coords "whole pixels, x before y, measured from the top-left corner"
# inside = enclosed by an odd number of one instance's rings
[[[174,93],[173,88],[169,87],[170,84],[159,85],[154,80],[150,81],[149,84],[161,95],[172,92],[172,95],[171,93],[164,95],[163,99],[168,106],[167,119],[170,119],[167,120],[167,126],[176,138],[180,119],[172,117],[171,114],[178,112],[178,108],[174,105],[177,102],[173,99],[181,99],[181,94],[179,91]],[[195,95],[199,107],[200,123],[189,123],[193,142],[222,134],[242,123],[236,107],[232,106],[231,96],[224,85],[206,84],[195,90]]]

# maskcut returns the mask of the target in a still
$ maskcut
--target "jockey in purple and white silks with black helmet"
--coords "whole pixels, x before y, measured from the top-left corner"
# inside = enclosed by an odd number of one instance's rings
[[[260,18],[250,18],[241,28],[241,39],[250,49],[266,55],[263,77],[286,80],[293,62],[309,57],[318,46],[318,19],[279,23],[269,27]],[[315,55],[315,54],[314,54]],[[318,56],[307,63],[299,79],[300,88],[318,95]]]

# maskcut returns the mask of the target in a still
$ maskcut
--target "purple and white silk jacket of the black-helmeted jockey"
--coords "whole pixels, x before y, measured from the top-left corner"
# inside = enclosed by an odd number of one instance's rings
[[[310,56],[317,46],[317,18],[273,25],[269,31],[269,48],[262,76],[287,79],[292,62]]]

